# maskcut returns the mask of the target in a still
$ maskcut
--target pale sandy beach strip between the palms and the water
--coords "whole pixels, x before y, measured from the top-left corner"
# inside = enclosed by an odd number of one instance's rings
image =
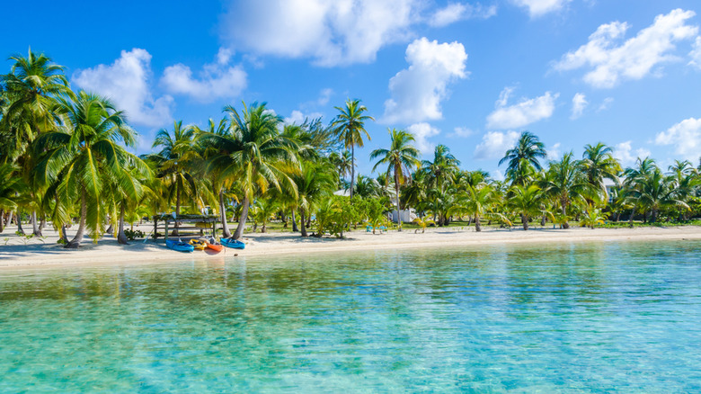
[[[90,239],[78,250],[64,249],[57,244],[58,234],[45,230],[45,238],[29,240],[14,234],[16,228],[6,228],[0,234],[0,268],[36,265],[75,264],[123,264],[149,263],[176,260],[206,260],[236,258],[237,256],[288,255],[311,253],[351,252],[353,250],[380,250],[412,247],[456,247],[515,243],[561,243],[616,240],[701,240],[701,227],[670,228],[587,228],[553,229],[487,229],[475,232],[474,228],[429,228],[426,233],[390,231],[375,234],[356,230],[346,239],[330,237],[302,238],[298,233],[247,234],[244,250],[226,249],[226,253],[208,254],[196,251],[183,254],[164,247],[163,240],[132,241],[121,246],[113,237],[104,237],[95,245]],[[146,232],[150,228],[144,228]]]

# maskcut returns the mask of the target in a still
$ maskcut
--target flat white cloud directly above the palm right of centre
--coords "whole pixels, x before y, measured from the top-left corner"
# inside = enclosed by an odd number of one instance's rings
[[[546,92],[536,98],[524,98],[517,104],[506,106],[512,90],[513,88],[507,87],[501,92],[496,110],[487,116],[487,129],[519,129],[553,116],[555,100],[560,94]]]

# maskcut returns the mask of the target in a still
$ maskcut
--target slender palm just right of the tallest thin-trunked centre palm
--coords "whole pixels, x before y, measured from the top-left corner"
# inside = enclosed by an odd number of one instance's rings
[[[395,196],[396,196],[396,217],[398,220],[398,229],[402,231],[402,217],[399,214],[400,210],[400,194],[399,187],[404,184],[406,175],[411,174],[411,168],[421,166],[419,161],[419,149],[414,148],[413,134],[404,130],[389,130],[390,148],[375,149],[370,153],[370,159],[374,160],[381,157],[379,161],[372,167],[372,171],[377,169],[377,166],[387,165],[387,174],[390,171],[395,173]]]

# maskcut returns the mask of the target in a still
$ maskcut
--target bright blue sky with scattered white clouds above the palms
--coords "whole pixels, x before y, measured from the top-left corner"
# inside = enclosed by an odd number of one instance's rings
[[[7,15],[26,5],[4,4]],[[551,157],[602,141],[635,157],[701,156],[701,7],[667,0],[258,0],[34,2],[4,18],[0,54],[47,53],[74,88],[108,95],[138,152],[173,121],[204,125],[226,104],[267,102],[330,121],[359,98],[377,121],[357,150],[413,131],[499,177],[522,130]],[[11,63],[5,62],[5,70]],[[503,171],[503,168],[501,168]]]

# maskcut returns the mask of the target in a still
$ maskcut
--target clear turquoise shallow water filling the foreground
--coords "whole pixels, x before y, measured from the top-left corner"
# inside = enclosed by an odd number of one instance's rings
[[[701,243],[0,271],[0,392],[699,392]]]

